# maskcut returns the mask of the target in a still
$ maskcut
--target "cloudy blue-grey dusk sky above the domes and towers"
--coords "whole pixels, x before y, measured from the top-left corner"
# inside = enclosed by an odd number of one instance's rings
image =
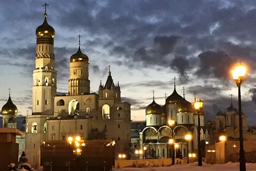
[[[0,6],[0,106],[8,99],[20,114],[31,114],[35,29],[44,21],[45,1],[2,1]],[[164,104],[164,93],[177,91],[205,102],[207,117],[230,105],[237,87],[230,69],[246,64],[242,87],[243,111],[256,124],[256,1],[246,0],[77,0],[47,1],[48,22],[56,36],[54,51],[58,92],[67,92],[69,57],[81,48],[90,59],[91,90],[106,82],[108,65],[119,81],[123,100],[132,104],[132,120],[145,118],[152,101]]]

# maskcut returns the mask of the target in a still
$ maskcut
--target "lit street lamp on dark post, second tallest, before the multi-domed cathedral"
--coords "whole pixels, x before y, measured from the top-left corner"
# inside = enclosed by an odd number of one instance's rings
[[[199,100],[194,103],[194,107],[198,114],[198,130],[197,130],[197,156],[198,156],[198,166],[202,166],[202,155],[201,155],[201,141],[200,141],[200,111],[203,108],[203,101]]]

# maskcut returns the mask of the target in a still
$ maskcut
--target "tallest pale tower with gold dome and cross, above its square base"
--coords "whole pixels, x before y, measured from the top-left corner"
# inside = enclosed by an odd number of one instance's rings
[[[35,70],[33,71],[33,109],[35,115],[53,115],[54,96],[56,95],[56,71],[54,56],[54,34],[47,23],[44,4],[44,23],[36,29]]]

